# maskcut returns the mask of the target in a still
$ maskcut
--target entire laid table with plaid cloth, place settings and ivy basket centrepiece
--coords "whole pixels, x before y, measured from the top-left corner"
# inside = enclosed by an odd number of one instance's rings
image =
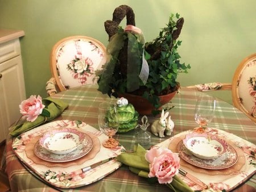
[[[98,84],[20,104],[23,117],[7,139],[12,190],[255,191],[255,123],[176,82],[190,68],[177,53],[183,23],[171,14],[145,43],[131,7],[117,7],[105,22],[109,46]]]

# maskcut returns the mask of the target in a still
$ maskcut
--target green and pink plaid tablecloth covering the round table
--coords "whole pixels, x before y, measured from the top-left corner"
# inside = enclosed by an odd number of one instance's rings
[[[174,120],[175,128],[174,135],[177,133],[190,130],[197,126],[194,119],[194,110],[196,98],[199,92],[182,87],[175,98],[172,99],[168,105],[175,106],[172,108],[171,118]],[[80,86],[75,89],[63,91],[53,95],[54,98],[63,99],[69,103],[67,110],[55,120],[81,120],[95,128],[97,124],[98,105],[102,101],[110,100],[108,95],[102,95],[97,91],[96,86]],[[114,99],[114,98],[113,98]],[[156,117],[148,116],[150,123]],[[232,105],[219,100],[217,102],[217,109],[214,119],[209,124],[209,127],[218,128],[226,132],[234,133],[234,135],[256,143],[256,124],[253,123],[245,114],[234,108]],[[127,149],[133,151],[135,144],[134,130],[127,133],[120,133],[115,136],[119,142]],[[159,138],[152,135],[151,144],[158,144],[161,141],[168,139],[168,137]],[[7,139],[6,162],[7,174],[9,176],[12,191],[70,191],[70,189],[54,189],[46,183],[38,180],[33,174],[28,172],[26,168],[20,163],[15,156],[11,147],[13,138],[10,136]],[[123,165],[121,168],[102,178],[102,180],[94,182],[90,185],[73,189],[73,191],[168,191],[168,187],[164,185],[150,185],[144,178],[138,177],[131,173],[127,166]],[[249,181],[243,183],[234,191],[255,191],[256,190],[256,176],[250,178]]]

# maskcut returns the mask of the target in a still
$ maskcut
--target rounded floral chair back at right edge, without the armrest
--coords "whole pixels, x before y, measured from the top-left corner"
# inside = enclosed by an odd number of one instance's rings
[[[256,53],[238,65],[232,81],[232,96],[234,106],[256,122]]]

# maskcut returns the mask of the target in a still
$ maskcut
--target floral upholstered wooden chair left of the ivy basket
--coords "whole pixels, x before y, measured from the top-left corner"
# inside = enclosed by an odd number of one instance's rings
[[[48,95],[93,84],[94,72],[105,63],[105,52],[105,46],[92,37],[70,36],[58,41],[50,56],[52,77],[46,84]]]

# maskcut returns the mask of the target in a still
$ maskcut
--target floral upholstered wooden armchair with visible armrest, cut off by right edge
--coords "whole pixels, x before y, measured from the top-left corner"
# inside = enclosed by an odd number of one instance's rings
[[[232,90],[233,105],[256,123],[256,53],[240,62],[232,84],[214,82],[188,88],[199,91]]]

